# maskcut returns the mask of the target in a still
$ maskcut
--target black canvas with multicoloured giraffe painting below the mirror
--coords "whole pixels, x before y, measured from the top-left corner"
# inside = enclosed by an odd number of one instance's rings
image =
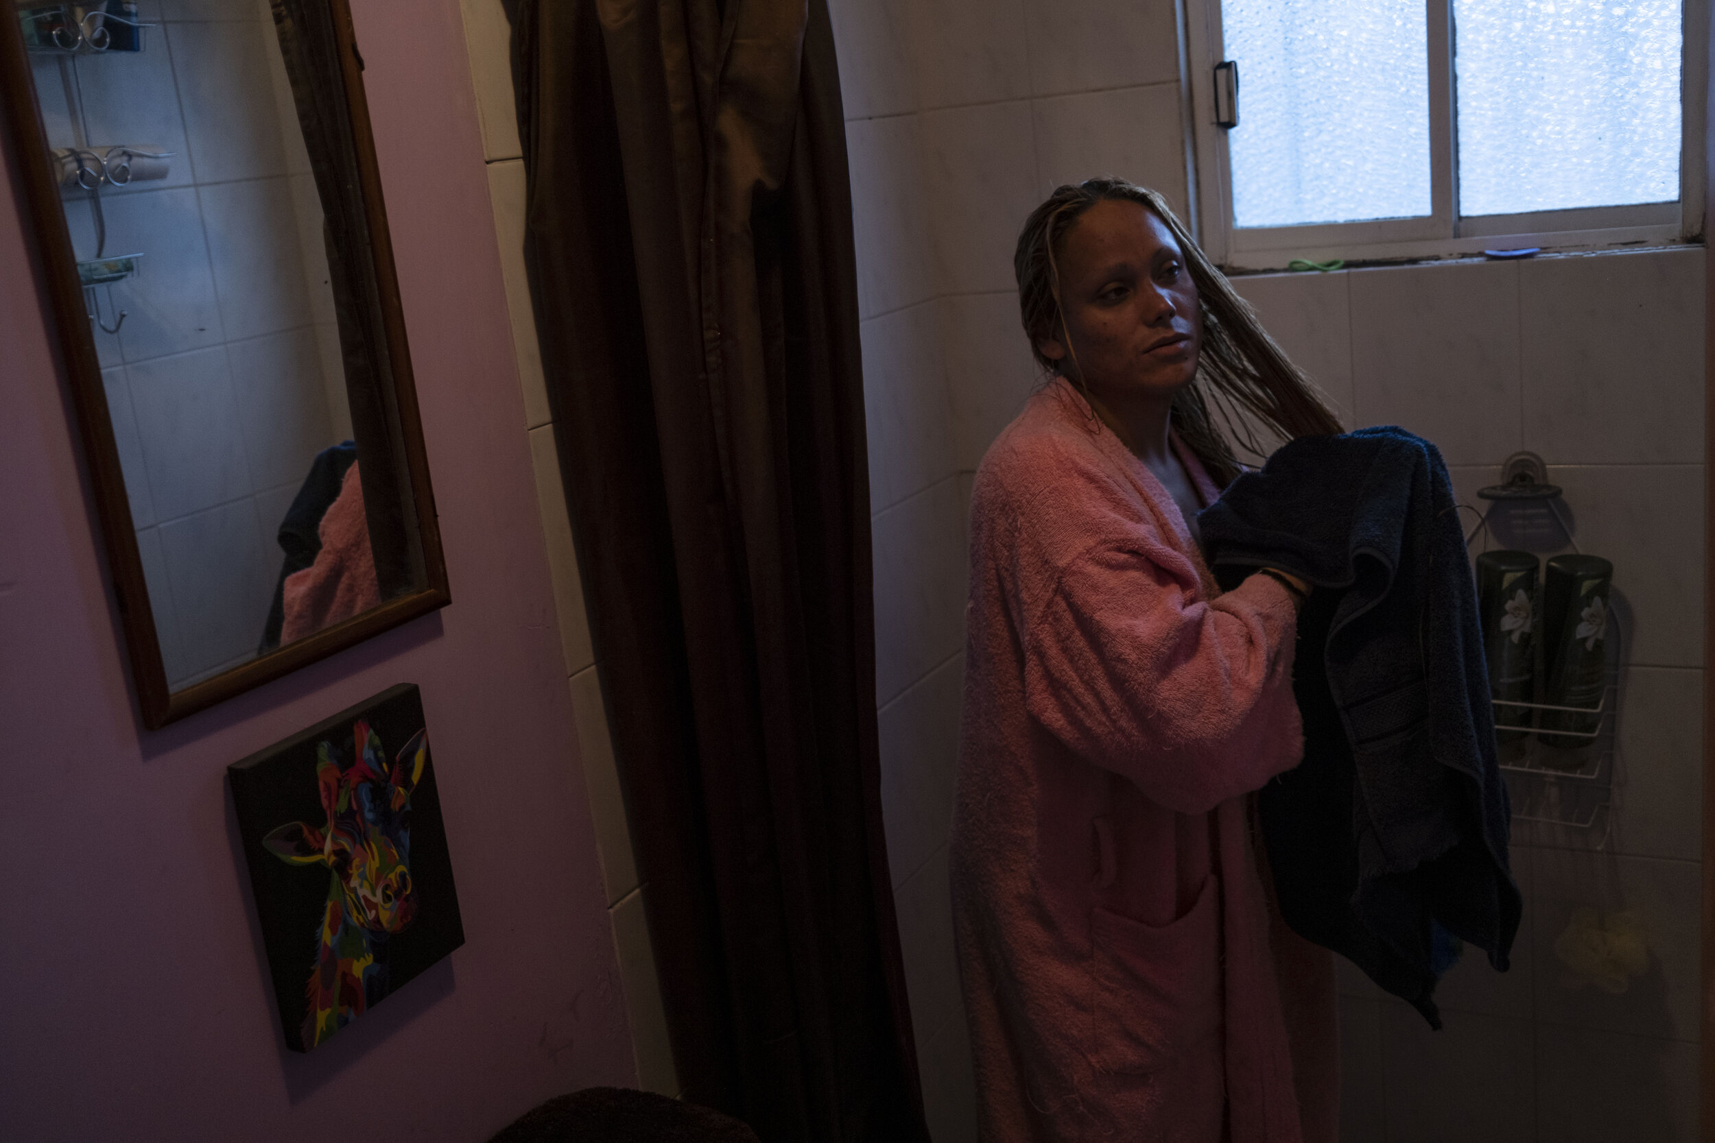
[[[286,1044],[326,1044],[465,943],[415,685],[226,768]]]

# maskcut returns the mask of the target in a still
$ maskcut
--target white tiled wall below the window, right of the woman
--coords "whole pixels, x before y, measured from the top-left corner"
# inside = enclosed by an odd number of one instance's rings
[[[1703,260],[1670,248],[1235,281],[1351,423],[1435,440],[1461,500],[1483,504],[1475,490],[1507,454],[1538,452],[1573,535],[1540,509],[1497,511],[1492,547],[1547,557],[1576,542],[1609,557],[1624,620],[1607,843],[1514,828],[1525,924],[1513,970],[1461,963],[1441,989],[1439,1037],[1343,973],[1355,1143],[1694,1138]],[[1648,972],[1621,996],[1571,987],[1554,954],[1581,907],[1648,925]]]

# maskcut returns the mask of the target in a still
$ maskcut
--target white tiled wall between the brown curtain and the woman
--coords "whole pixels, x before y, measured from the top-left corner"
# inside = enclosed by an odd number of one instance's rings
[[[947,828],[976,470],[1038,384],[1012,250],[1060,182],[1187,204],[1173,3],[832,0],[852,168],[883,811],[930,1126],[976,1138]]]

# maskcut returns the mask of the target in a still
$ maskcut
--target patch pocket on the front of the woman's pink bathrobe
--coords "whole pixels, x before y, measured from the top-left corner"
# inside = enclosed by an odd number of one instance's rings
[[[1092,917],[1089,1061],[1110,1074],[1149,1074],[1187,1062],[1221,1030],[1221,886],[1166,925],[1106,908]]]

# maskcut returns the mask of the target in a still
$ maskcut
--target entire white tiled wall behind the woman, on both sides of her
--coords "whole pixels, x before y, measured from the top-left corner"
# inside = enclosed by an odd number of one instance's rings
[[[864,319],[888,857],[936,1140],[976,1138],[945,823],[966,499],[990,440],[1038,384],[1017,336],[1014,236],[1055,185],[1092,171],[1195,209],[1207,166],[1194,84],[1206,72],[1192,70],[1187,17],[1202,9],[833,7]],[[1684,43],[1689,62],[1701,41],[1688,31]],[[1688,98],[1686,115],[1700,111]],[[1458,500],[1492,509],[1473,555],[1578,550],[1614,564],[1624,665],[1600,821],[1514,819],[1526,905],[1513,968],[1465,958],[1437,990],[1442,1032],[1341,972],[1341,1138],[1700,1138],[1705,247],[1233,284],[1348,427],[1394,423],[1435,442]],[[1557,504],[1480,499],[1521,451],[1547,463]],[[1478,516],[1465,519],[1473,531]],[[1521,797],[1542,795],[1514,788]],[[1585,809],[1564,816],[1583,821]],[[1648,966],[1600,982],[1557,956],[1583,910],[1641,917]]]

